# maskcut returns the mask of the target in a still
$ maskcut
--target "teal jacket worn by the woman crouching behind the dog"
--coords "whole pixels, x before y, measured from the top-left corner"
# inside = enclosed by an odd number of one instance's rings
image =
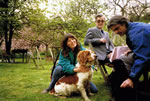
[[[80,46],[81,50],[85,50],[82,46]],[[74,68],[77,63],[76,57],[74,57],[73,52],[70,50],[69,56],[64,57],[62,54],[62,51],[60,52],[59,55],[59,61],[57,65],[62,66],[63,72],[65,74],[74,74]]]

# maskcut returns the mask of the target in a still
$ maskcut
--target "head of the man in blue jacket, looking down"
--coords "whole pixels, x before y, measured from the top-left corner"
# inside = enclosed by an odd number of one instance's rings
[[[108,29],[111,29],[116,34],[123,36],[127,32],[129,20],[123,16],[113,16],[108,22]]]

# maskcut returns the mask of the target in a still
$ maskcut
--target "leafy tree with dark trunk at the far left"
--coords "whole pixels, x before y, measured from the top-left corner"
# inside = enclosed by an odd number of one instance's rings
[[[30,24],[29,17],[35,11],[39,0],[2,0],[0,7],[1,35],[5,37],[6,53],[10,55],[12,37],[24,24]],[[32,12],[32,13],[31,13]],[[30,14],[29,14],[30,13]],[[4,34],[3,34],[4,33]]]

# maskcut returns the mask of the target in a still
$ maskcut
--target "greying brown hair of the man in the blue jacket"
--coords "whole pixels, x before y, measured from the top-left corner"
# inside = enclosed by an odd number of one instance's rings
[[[107,28],[110,29],[113,25],[116,24],[125,24],[125,26],[128,27],[128,22],[129,20],[126,17],[115,15],[108,21]]]

